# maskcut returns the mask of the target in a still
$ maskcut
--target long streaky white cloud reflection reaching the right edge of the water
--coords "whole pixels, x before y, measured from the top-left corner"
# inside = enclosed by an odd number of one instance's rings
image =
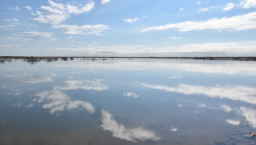
[[[141,83],[141,86],[165,90],[168,92],[177,92],[182,94],[201,94],[211,98],[219,97],[221,99],[228,98],[231,100],[244,101],[249,104],[256,104],[255,94],[256,88],[245,86],[197,86],[179,84],[177,87],[167,87],[163,85],[148,85]]]

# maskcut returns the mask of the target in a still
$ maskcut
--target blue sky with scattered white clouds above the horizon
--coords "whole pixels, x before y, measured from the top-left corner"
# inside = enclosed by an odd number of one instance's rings
[[[8,0],[0,56],[256,56],[256,0]]]

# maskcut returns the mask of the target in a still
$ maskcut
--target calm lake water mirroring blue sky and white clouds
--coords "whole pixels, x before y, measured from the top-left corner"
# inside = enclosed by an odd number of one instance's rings
[[[256,144],[248,133],[255,61],[0,64],[0,144]]]

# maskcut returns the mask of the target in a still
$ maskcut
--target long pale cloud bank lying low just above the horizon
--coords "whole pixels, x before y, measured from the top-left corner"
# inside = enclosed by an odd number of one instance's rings
[[[115,46],[89,46],[81,48],[54,48],[47,50],[60,50],[60,51],[77,51],[77,52],[88,52],[88,53],[101,53],[109,52],[115,54],[129,54],[138,55],[145,53],[176,53],[177,57],[181,53],[191,53],[196,52],[196,54],[203,52],[223,52],[223,56],[234,56],[234,54],[243,55],[253,55],[256,54],[256,41],[241,41],[241,42],[223,42],[223,43],[194,43],[185,44],[180,46],[170,46],[170,47],[147,47],[143,45],[115,45]],[[136,49],[137,48],[137,49]],[[182,55],[184,56],[184,55]],[[191,54],[189,55],[191,57]],[[200,54],[199,56],[202,56]],[[218,56],[220,56],[218,54]],[[169,55],[170,57],[170,55]]]

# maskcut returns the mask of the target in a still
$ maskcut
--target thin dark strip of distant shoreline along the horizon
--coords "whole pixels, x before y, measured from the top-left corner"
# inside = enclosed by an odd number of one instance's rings
[[[207,60],[240,60],[256,61],[256,57],[33,57],[33,56],[0,56],[2,60],[8,59],[68,59],[68,58],[150,58],[150,59],[207,59]],[[72,60],[72,59],[71,59]]]

